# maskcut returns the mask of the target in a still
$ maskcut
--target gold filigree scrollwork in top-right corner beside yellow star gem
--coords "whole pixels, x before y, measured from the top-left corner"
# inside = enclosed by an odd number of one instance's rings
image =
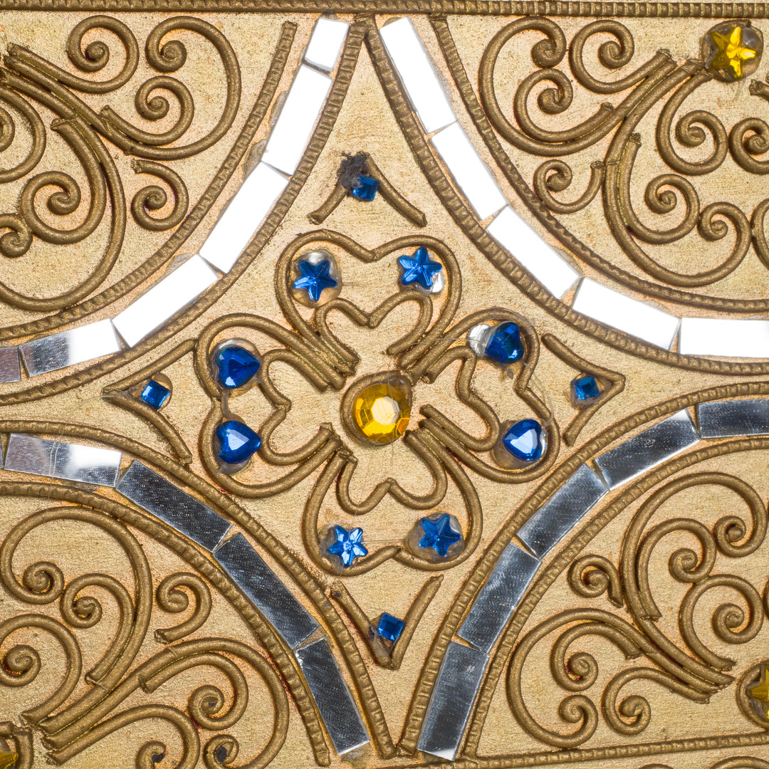
[[[454,51],[448,28],[441,21],[434,22],[434,25],[451,65]],[[531,49],[532,61],[538,69],[521,79],[513,98],[513,114],[508,115],[496,94],[494,72],[500,66],[505,45],[514,35],[525,31],[537,31],[544,35],[544,39],[535,43]],[[608,70],[617,70],[631,63],[634,56],[633,37],[626,26],[614,19],[602,19],[584,26],[574,35],[570,45],[567,45],[561,28],[548,18],[528,17],[506,25],[494,35],[481,58],[478,87],[485,115],[491,127],[515,148],[531,155],[548,156],[549,159],[534,173],[533,187],[538,198],[550,211],[560,215],[581,211],[590,205],[598,189],[602,188],[604,215],[612,235],[623,251],[648,275],[677,288],[696,288],[720,281],[731,274],[747,255],[751,245],[751,227],[744,212],[728,201],[714,201],[701,207],[694,185],[685,176],[710,174],[721,166],[729,151],[746,171],[765,173],[765,161],[756,156],[767,151],[766,124],[759,118],[746,118],[734,125],[731,134],[727,136],[726,128],[712,112],[694,109],[675,122],[673,131],[674,118],[681,105],[697,88],[712,79],[712,75],[704,70],[703,63],[691,61],[677,66],[667,52],[660,51],[628,75],[601,80],[589,72],[584,60],[586,42],[598,34],[608,34],[613,38],[598,47],[598,62],[601,65]],[[544,82],[553,84],[553,87],[541,89],[536,98],[538,108],[545,116],[564,115],[574,101],[571,79],[557,68],[564,60],[567,49],[571,75],[588,93],[627,93],[618,103],[600,105],[591,117],[571,128],[543,128],[534,122],[528,107],[536,86]],[[456,65],[452,72],[455,78],[458,77]],[[458,83],[461,83],[461,78]],[[467,91],[466,86],[464,91]],[[466,101],[470,98],[468,93],[464,93],[464,96]],[[674,173],[657,175],[647,185],[644,201],[647,208],[657,215],[670,214],[679,202],[683,202],[681,221],[667,230],[644,225],[634,211],[630,194],[634,158],[641,142],[641,136],[636,132],[637,126],[660,102],[663,108],[657,119],[657,148],[661,159]],[[604,159],[596,160],[591,165],[591,177],[583,194],[571,202],[561,202],[555,198],[552,193],[564,191],[572,180],[571,167],[560,158],[588,149],[612,132],[613,137]],[[674,148],[671,132],[686,148],[700,148],[709,136],[713,148],[702,159],[687,160]],[[505,168],[508,156],[501,147],[492,148],[492,151],[501,160],[503,171],[510,177],[513,171]],[[511,178],[512,183],[515,181]],[[587,249],[574,241],[568,231],[563,231],[560,224],[556,226],[554,220],[545,221],[545,224],[557,237],[562,240],[565,238],[564,242],[568,241],[566,245],[571,250],[583,254],[592,265],[611,273],[611,277],[620,278],[627,285],[632,284],[631,288],[635,290],[660,297],[664,295],[664,298],[675,301],[691,300],[705,305],[709,301],[709,298],[700,296],[695,300],[694,295],[684,296],[681,291],[657,291],[651,284],[633,280],[630,275],[621,274],[621,270],[614,268],[614,265],[610,267],[598,255],[586,253]],[[641,246],[642,243],[669,245],[685,238],[695,228],[706,241],[720,241],[730,231],[734,234],[731,252],[714,268],[691,273],[674,271],[664,267]],[[758,255],[763,258],[761,237],[754,237],[754,242]]]

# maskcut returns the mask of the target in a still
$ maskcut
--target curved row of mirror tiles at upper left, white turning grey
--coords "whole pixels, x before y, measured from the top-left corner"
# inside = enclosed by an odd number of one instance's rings
[[[114,318],[0,350],[0,382],[30,377],[135,347],[226,275],[291,181],[334,82],[347,22],[321,17],[293,78],[261,161],[226,205],[198,254],[191,255]]]

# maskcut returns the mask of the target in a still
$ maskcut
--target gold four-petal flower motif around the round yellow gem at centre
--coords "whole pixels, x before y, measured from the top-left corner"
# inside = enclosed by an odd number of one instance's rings
[[[440,265],[445,276],[445,288],[440,294],[419,291],[401,282],[398,257],[414,254],[419,249],[429,255],[430,261]],[[344,284],[341,294],[321,306],[305,308],[295,296],[293,284],[295,265],[308,252],[327,251],[340,266],[341,272],[355,266],[355,260],[363,265],[381,260],[391,261],[391,293],[377,307],[366,310],[346,298]],[[424,260],[423,260],[424,261]],[[302,514],[301,528],[305,548],[318,567],[333,573],[339,569],[339,558],[331,553],[331,532],[366,527],[365,517],[375,510],[385,497],[401,504],[404,525],[394,531],[392,541],[378,548],[368,547],[368,552],[355,553],[343,563],[345,575],[361,574],[394,558],[412,568],[451,568],[461,563],[474,551],[481,538],[482,510],[472,475],[479,475],[498,483],[529,481],[548,471],[558,454],[558,428],[551,413],[540,398],[529,388],[531,373],[536,366],[539,342],[534,328],[520,315],[504,308],[488,308],[454,321],[461,291],[461,275],[454,254],[436,238],[398,238],[374,250],[364,248],[356,241],[335,231],[319,230],[302,235],[285,249],[276,265],[275,286],[278,304],[288,325],[278,324],[258,315],[238,314],[220,318],[201,335],[196,350],[196,368],[208,393],[212,408],[205,421],[201,450],[208,471],[216,476],[221,486],[244,497],[265,498],[281,494],[315,471],[315,482],[308,494]],[[388,286],[383,286],[384,291]],[[391,361],[391,369],[364,374],[358,371],[361,357],[332,330],[329,318],[333,314],[345,316],[348,321],[363,328],[377,328],[387,316],[405,303],[418,307],[418,315],[410,328],[384,350]],[[496,414],[473,386],[474,372],[478,365],[494,365],[491,359],[479,357],[476,349],[468,345],[468,331],[481,324],[514,322],[521,329],[525,355],[508,368],[509,378],[504,386],[510,388],[511,413]],[[218,424],[236,411],[235,398],[218,391],[211,378],[211,350],[225,338],[228,329],[250,328],[267,335],[276,343],[275,348],[261,354],[261,370],[258,387],[270,402],[273,411],[259,426],[261,448],[247,471],[235,476],[217,473],[217,464],[211,449],[211,439]],[[263,348],[259,343],[260,351]],[[285,420],[291,409],[301,409],[301,402],[294,403],[278,391],[270,375],[271,365],[281,361],[291,365],[298,374],[308,380],[318,391],[328,393],[329,398],[339,400],[339,426],[318,424],[318,431],[305,444],[288,453],[281,453],[271,445],[271,434]],[[424,383],[435,381],[444,371],[459,362],[454,382],[454,393],[462,404],[470,408],[485,425],[481,436],[471,434],[456,424],[448,415],[429,403],[421,404],[417,418],[412,407],[419,401]],[[516,404],[516,401],[518,403]],[[523,413],[522,413],[523,412]],[[526,413],[528,412],[528,413]],[[531,415],[548,426],[548,449],[544,456],[530,467],[508,468],[494,460],[494,446],[500,439],[504,419]],[[306,417],[301,421],[306,424]],[[414,461],[421,462],[431,476],[432,486],[424,494],[414,494],[396,479],[385,478],[375,484],[365,498],[356,498],[353,489],[359,455],[364,446],[391,441],[402,443],[413,454]],[[375,449],[376,451],[377,449]],[[411,461],[408,462],[411,464]],[[247,481],[275,475],[275,468],[291,469],[273,481]],[[413,466],[413,465],[412,465]],[[453,484],[458,495],[446,506],[444,502]],[[461,505],[456,503],[461,499]],[[335,508],[336,520],[321,524],[321,508],[328,518],[328,508]],[[454,509],[459,508],[459,509]],[[464,509],[461,509],[464,508]],[[461,522],[464,548],[447,558],[436,558],[429,548],[419,546],[414,531],[424,531],[424,520],[436,514],[449,514]],[[355,517],[355,526],[351,525]],[[361,518],[362,517],[362,518]],[[432,555],[432,557],[431,557]]]

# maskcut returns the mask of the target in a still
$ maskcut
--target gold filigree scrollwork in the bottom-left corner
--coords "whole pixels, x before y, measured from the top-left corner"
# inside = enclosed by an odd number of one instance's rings
[[[43,491],[41,489],[41,491]],[[102,529],[118,544],[133,573],[134,587],[126,588],[110,574],[87,573],[67,580],[62,569],[51,561],[28,564],[19,577],[14,568],[15,552],[21,541],[38,527],[59,521]],[[208,585],[196,574],[170,574],[158,587],[158,607],[179,613],[188,608],[188,597],[180,588],[195,596],[195,606],[188,618],[173,628],[155,631],[155,638],[168,644],[163,650],[143,661],[133,671],[136,654],[148,632],[152,605],[152,580],[145,552],[137,539],[121,521],[95,509],[57,507],[39,511],[20,521],[5,538],[0,548],[0,579],[3,587],[22,604],[44,608],[57,601],[61,620],[42,613],[16,614],[0,623],[0,645],[17,631],[30,628],[42,632],[38,648],[28,644],[6,647],[2,654],[0,685],[24,687],[35,681],[43,664],[43,654],[50,653],[48,637],[55,638],[65,653],[66,664],[60,681],[42,702],[28,708],[23,717],[35,724],[45,735],[49,757],[57,764],[65,763],[86,747],[108,734],[130,724],[159,719],[172,727],[181,738],[181,756],[177,767],[192,769],[201,754],[200,731],[214,734],[203,747],[204,761],[209,769],[230,765],[238,755],[235,737],[221,734],[234,726],[248,706],[249,684],[240,665],[250,667],[266,685],[270,694],[275,720],[265,746],[248,762],[249,767],[265,767],[285,741],[288,731],[288,698],[281,678],[270,661],[258,650],[227,638],[195,638],[180,641],[201,628],[211,611]],[[118,623],[112,641],[105,639],[105,652],[85,674],[85,693],[72,701],[82,675],[82,651],[75,634],[69,628],[94,628],[110,611],[102,601],[86,593],[88,588],[105,591],[117,609]],[[45,641],[44,641],[45,639]],[[202,684],[191,692],[188,713],[158,701],[121,709],[129,695],[137,690],[160,694],[164,684],[192,668],[205,667],[215,671],[211,683]],[[129,672],[130,671],[130,672]],[[227,685],[220,686],[218,677]],[[63,706],[63,707],[62,707]],[[7,730],[6,730],[7,731]],[[5,732],[3,732],[3,736]],[[22,744],[23,734],[19,735]],[[31,747],[31,746],[30,746]],[[165,741],[151,740],[138,751],[138,767],[150,769],[158,757],[166,753]],[[20,751],[23,765],[31,765],[31,754]]]

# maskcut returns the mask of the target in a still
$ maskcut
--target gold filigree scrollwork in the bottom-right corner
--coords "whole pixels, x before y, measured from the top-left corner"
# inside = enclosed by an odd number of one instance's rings
[[[676,494],[697,486],[718,486],[733,491],[750,513],[751,524],[741,516],[729,514],[714,524],[712,531],[695,518],[668,518],[647,528],[654,513]],[[695,609],[701,597],[714,588],[734,591],[745,608],[734,603],[718,606],[711,618],[714,634],[726,644],[745,644],[755,638],[764,621],[764,599],[756,588],[735,574],[713,574],[717,554],[746,558],[764,542],[767,508],[745,481],[734,475],[707,471],[676,478],[657,489],[641,505],[626,531],[616,568],[598,554],[584,555],[571,564],[568,582],[584,598],[605,596],[615,607],[626,607],[631,621],[601,609],[573,609],[538,624],[516,647],[508,673],[508,695],[513,712],[527,731],[547,744],[574,747],[587,741],[598,727],[599,708],[582,692],[598,681],[598,662],[586,651],[568,656],[568,649],[579,638],[599,635],[607,638],[630,660],[643,655],[655,667],[631,667],[615,674],[605,685],[601,711],[607,724],[618,734],[640,734],[651,720],[651,707],[645,697],[632,694],[619,700],[621,690],[631,681],[647,680],[661,684],[694,702],[707,702],[711,694],[733,683],[727,674],[734,661],[711,650],[695,627]],[[668,561],[671,577],[688,588],[678,611],[678,631],[688,651],[677,644],[657,621],[663,618],[657,608],[649,581],[649,563],[654,548],[663,538],[675,534],[691,535],[701,553],[681,547]],[[559,707],[561,718],[578,724],[566,734],[542,727],[528,711],[522,689],[524,664],[534,647],[551,634],[558,634],[552,645],[551,672],[554,681],[573,693]],[[746,714],[751,710],[744,693],[745,684],[757,673],[751,668],[737,687],[737,699]],[[751,717],[748,714],[748,717]],[[755,716],[753,721],[759,722]],[[765,726],[765,724],[762,724]]]

